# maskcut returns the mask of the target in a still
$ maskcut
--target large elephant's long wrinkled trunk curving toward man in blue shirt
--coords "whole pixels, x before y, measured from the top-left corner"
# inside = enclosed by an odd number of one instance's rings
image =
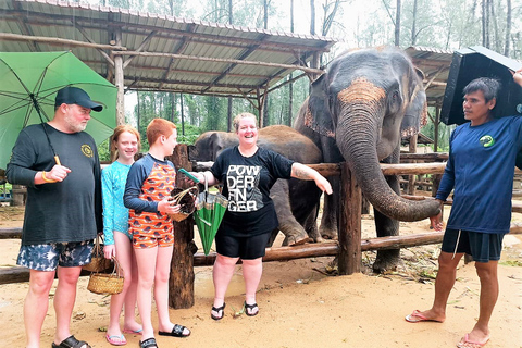
[[[390,219],[419,221],[436,215],[439,204],[435,200],[410,201],[401,198],[389,187],[381,171],[376,145],[384,116],[384,90],[376,86],[369,89],[359,86],[350,91],[351,87],[353,84],[338,95],[341,111],[336,142],[362,194],[375,209]]]

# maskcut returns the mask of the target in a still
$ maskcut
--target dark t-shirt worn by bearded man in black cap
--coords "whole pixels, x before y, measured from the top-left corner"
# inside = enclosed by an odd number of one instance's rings
[[[35,185],[35,174],[55,164],[49,141],[71,173],[61,183]],[[62,133],[47,123],[25,127],[14,145],[7,176],[12,184],[27,186],[22,245],[84,241],[103,231],[100,161],[87,133]]]

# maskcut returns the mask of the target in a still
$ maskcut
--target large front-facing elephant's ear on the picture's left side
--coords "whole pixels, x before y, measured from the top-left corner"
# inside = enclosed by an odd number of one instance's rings
[[[323,136],[335,138],[327,88],[327,74],[321,75],[312,83],[304,125]]]

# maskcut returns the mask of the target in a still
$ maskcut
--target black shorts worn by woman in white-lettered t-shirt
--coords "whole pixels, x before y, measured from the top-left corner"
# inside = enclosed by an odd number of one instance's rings
[[[248,237],[226,236],[217,233],[215,236],[215,251],[228,258],[253,260],[264,257],[266,244],[272,232]]]

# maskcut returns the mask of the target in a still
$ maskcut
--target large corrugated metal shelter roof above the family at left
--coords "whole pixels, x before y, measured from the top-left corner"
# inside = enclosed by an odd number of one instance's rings
[[[0,32],[113,46],[121,32],[117,46],[123,49],[97,49],[74,42],[29,41],[5,36],[0,37],[0,49],[7,52],[71,50],[109,79],[113,76],[113,69],[100,51],[112,59],[114,52],[124,49],[175,54],[124,55],[124,61],[129,61],[124,70],[125,86],[221,96],[254,96],[258,88],[262,92],[264,87],[274,86],[295,71],[286,65],[310,62],[314,53],[327,52],[337,41],[54,0],[0,1]],[[225,61],[201,61],[199,58]],[[259,64],[246,65],[236,60]],[[269,66],[266,63],[284,65]]]

